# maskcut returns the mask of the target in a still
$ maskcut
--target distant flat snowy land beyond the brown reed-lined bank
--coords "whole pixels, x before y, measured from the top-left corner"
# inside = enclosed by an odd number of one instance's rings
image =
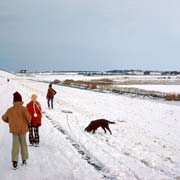
[[[162,76],[162,75],[94,75],[84,76],[78,73],[35,73],[35,74],[19,74],[18,78],[31,79],[36,81],[49,81],[54,80],[64,81],[71,80],[98,80],[110,79],[113,81],[112,87],[120,88],[137,88],[149,91],[157,91],[163,93],[180,93],[180,76]],[[154,82],[154,83],[153,83]],[[139,83],[139,84],[138,84]]]

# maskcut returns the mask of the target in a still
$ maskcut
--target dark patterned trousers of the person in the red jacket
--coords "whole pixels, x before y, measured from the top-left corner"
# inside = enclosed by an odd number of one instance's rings
[[[29,125],[29,143],[39,144],[39,126]]]

